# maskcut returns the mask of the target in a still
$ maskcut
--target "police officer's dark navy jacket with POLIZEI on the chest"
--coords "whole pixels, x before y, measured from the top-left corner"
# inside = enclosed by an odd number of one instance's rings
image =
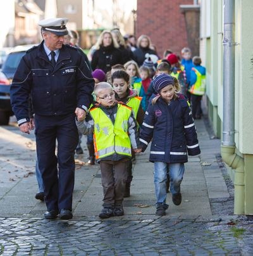
[[[80,49],[63,45],[53,67],[42,41],[18,65],[11,84],[11,105],[17,120],[28,120],[30,95],[35,114],[66,115],[77,107],[89,109],[93,89],[89,61]]]

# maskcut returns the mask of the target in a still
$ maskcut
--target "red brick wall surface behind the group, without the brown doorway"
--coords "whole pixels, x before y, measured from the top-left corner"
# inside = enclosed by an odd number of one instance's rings
[[[160,57],[165,49],[180,54],[188,46],[180,4],[193,4],[193,0],[137,0],[137,38],[149,35]]]

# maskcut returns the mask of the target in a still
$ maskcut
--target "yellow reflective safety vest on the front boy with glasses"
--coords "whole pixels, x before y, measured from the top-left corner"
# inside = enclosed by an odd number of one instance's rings
[[[108,157],[117,153],[132,156],[131,142],[128,136],[128,119],[132,108],[118,103],[115,122],[104,113],[101,108],[90,109],[94,120],[94,148],[96,159]]]

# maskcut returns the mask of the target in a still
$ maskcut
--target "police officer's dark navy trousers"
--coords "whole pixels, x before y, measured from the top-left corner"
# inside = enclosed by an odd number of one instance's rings
[[[71,210],[75,182],[74,155],[78,143],[75,114],[35,115],[35,136],[47,209]],[[58,142],[57,157],[56,140]]]

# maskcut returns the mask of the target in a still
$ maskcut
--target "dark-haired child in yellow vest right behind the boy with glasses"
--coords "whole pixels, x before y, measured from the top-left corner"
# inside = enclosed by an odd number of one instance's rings
[[[130,89],[130,77],[124,70],[117,70],[111,75],[111,82],[115,91],[117,101],[123,102],[130,106],[133,110],[133,115],[139,125],[142,125],[144,119],[144,111],[142,110],[142,98],[136,96]],[[128,160],[128,177],[124,197],[130,196],[130,186],[133,179],[132,176],[132,161],[135,160],[134,152],[132,159]]]

